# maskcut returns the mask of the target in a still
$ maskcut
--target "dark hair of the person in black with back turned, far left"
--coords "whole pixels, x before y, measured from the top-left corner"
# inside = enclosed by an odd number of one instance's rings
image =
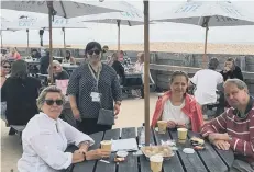
[[[16,60],[11,66],[11,77],[25,79],[27,77],[27,64],[24,60]]]

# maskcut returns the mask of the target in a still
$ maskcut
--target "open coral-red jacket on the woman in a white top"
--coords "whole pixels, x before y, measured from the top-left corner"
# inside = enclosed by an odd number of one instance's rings
[[[172,92],[166,92],[162,98],[158,99],[155,107],[155,112],[152,119],[152,127],[155,127],[157,121],[161,118],[164,110],[164,105],[167,100],[170,99]],[[181,111],[189,116],[191,122],[192,131],[200,131],[201,126],[203,125],[202,112],[197,101],[192,95],[186,93],[185,95],[185,106]]]

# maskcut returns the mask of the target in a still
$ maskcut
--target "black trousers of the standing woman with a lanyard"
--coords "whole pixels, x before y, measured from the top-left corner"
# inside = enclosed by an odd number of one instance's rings
[[[82,118],[81,122],[77,122],[78,130],[84,134],[91,135],[99,131],[106,131],[112,128],[111,125],[97,124],[97,118]]]

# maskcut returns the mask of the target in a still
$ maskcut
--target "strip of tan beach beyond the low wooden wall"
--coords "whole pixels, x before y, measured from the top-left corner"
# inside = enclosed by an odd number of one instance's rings
[[[23,47],[26,45],[3,45],[4,47]],[[67,48],[85,49],[86,45],[68,45]],[[110,50],[118,50],[118,45],[108,45]],[[30,45],[30,47],[40,47],[38,45]],[[48,47],[45,45],[44,47]],[[63,45],[53,45],[53,48],[63,48]],[[173,43],[161,42],[150,43],[151,51],[167,51],[167,53],[187,53],[187,54],[203,54],[203,43]],[[143,51],[144,44],[121,44],[122,50]],[[254,55],[254,45],[245,44],[208,44],[208,54],[232,54],[232,55]]]

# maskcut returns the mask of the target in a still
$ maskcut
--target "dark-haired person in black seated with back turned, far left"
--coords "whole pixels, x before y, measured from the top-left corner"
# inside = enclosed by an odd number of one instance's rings
[[[24,60],[14,61],[11,76],[1,88],[1,101],[7,102],[9,125],[26,125],[37,114],[36,99],[40,89],[41,81],[29,77],[27,64]]]

